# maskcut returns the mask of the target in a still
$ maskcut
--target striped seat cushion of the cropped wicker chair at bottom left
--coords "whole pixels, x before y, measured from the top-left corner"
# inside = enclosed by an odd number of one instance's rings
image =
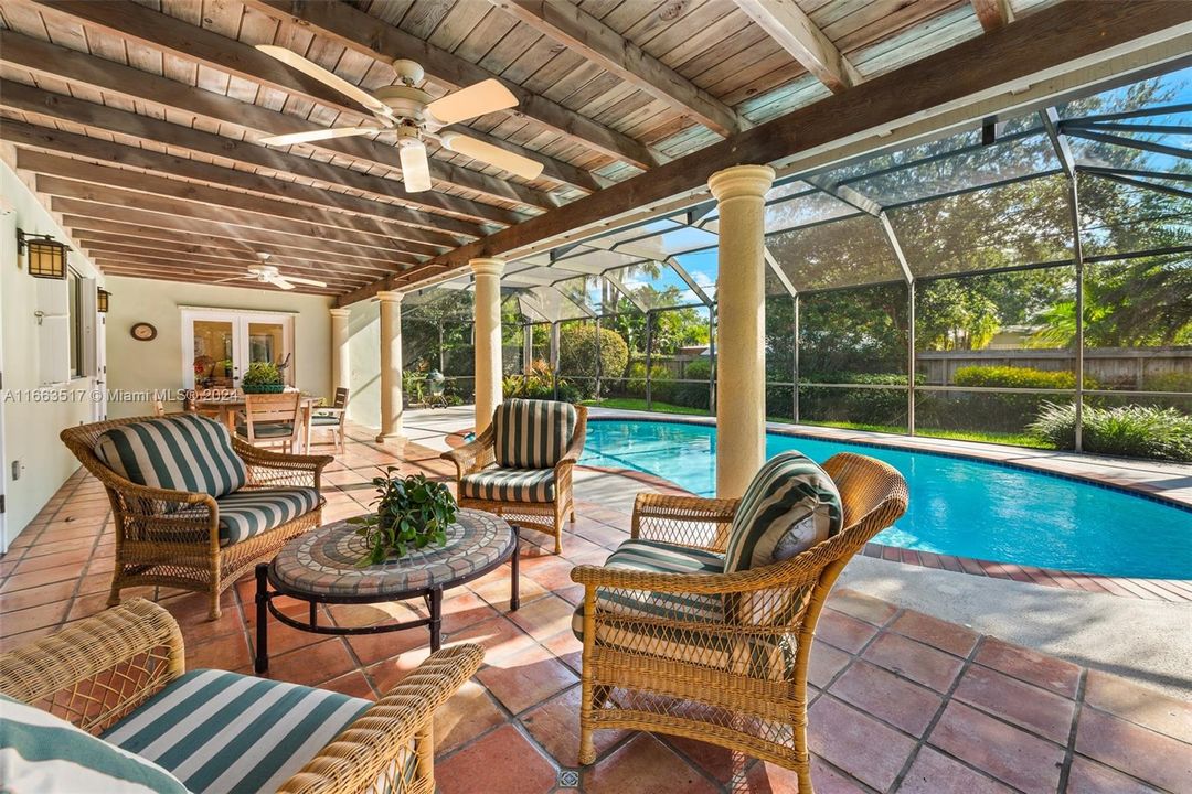
[[[192,670],[104,733],[192,792],[275,792],[372,704],[224,670]]]

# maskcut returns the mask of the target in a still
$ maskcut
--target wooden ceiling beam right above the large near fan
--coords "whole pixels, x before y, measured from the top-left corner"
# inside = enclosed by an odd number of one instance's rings
[[[393,58],[417,61],[426,69],[430,81],[449,90],[483,80],[498,80],[517,98],[517,107],[511,112],[534,119],[559,135],[640,169],[653,168],[668,160],[623,132],[504,80],[498,74],[434,46],[346,2],[305,0],[244,0],[244,2],[275,19],[304,25],[313,33],[328,36],[383,63],[392,63]]]

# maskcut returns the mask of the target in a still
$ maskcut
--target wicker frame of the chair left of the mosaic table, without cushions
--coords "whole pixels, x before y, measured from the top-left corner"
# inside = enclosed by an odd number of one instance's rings
[[[175,414],[168,414],[175,415]],[[176,414],[186,415],[186,414]],[[116,568],[108,606],[120,602],[120,589],[144,584],[207,593],[211,619],[219,617],[221,594],[259,562],[273,558],[291,538],[322,524],[322,499],[311,512],[246,540],[221,545],[219,509],[205,493],[149,488],[120,476],[95,456],[106,430],[154,417],[97,421],[62,431],[63,443],[104,483],[116,520]],[[248,469],[241,490],[298,486],[319,489],[323,467],[335,458],[283,455],[232,437],[232,449]]]

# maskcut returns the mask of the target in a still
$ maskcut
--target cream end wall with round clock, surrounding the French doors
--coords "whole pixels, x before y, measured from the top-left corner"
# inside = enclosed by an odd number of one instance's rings
[[[182,312],[180,306],[294,312],[294,385],[304,392],[331,395],[331,299],[299,295],[273,287],[246,289],[225,285],[150,281],[110,276],[107,313],[107,387],[112,392],[174,392],[182,388]],[[136,323],[157,329],[150,342],[132,338]],[[176,408],[178,404],[168,406]],[[153,412],[153,401],[108,402],[110,417]]]

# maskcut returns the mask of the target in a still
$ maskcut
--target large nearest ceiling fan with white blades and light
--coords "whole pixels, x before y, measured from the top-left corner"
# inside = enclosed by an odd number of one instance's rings
[[[498,80],[482,80],[473,86],[447,94],[442,99],[433,100],[430,94],[417,87],[424,76],[422,67],[414,61],[398,58],[393,61],[398,81],[392,86],[378,89],[375,94],[370,94],[359,86],[352,85],[284,46],[257,44],[256,49],[304,75],[330,86],[344,96],[354,99],[368,108],[380,123],[380,126],[375,127],[333,127],[279,135],[263,138],[261,143],[288,145],[395,130],[398,136],[402,179],[405,182],[406,193],[421,193],[430,189],[430,168],[427,163],[427,148],[423,137],[435,138],[449,151],[496,165],[522,179],[538,179],[542,173],[542,164],[529,157],[515,155],[499,146],[458,132],[441,131],[442,127],[457,121],[515,107],[517,98]]]

